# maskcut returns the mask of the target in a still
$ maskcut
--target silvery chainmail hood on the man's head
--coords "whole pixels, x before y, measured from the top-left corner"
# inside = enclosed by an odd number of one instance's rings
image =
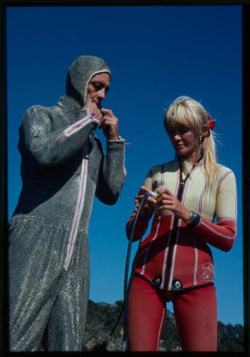
[[[68,68],[65,94],[76,99],[83,106],[89,80],[95,74],[103,72],[111,76],[110,69],[103,59],[95,56],[77,57]]]

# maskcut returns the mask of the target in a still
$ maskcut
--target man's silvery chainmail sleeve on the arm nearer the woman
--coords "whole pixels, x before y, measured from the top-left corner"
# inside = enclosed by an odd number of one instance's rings
[[[102,161],[95,196],[107,205],[117,201],[126,177],[125,140],[107,140],[107,153]]]

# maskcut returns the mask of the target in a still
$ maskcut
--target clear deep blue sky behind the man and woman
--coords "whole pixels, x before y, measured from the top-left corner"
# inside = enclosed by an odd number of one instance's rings
[[[125,223],[151,166],[174,152],[162,124],[179,95],[201,102],[216,120],[218,161],[233,170],[238,189],[238,235],[224,253],[212,249],[218,320],[243,324],[241,222],[241,6],[7,7],[9,219],[21,188],[18,126],[33,105],[54,105],[66,72],[82,54],[111,68],[103,107],[119,119],[127,178],[114,206],[94,199],[89,225],[90,295],[123,299],[128,241]],[[104,150],[105,138],[96,131]],[[131,260],[137,248],[133,243]],[[172,311],[171,304],[167,309]]]

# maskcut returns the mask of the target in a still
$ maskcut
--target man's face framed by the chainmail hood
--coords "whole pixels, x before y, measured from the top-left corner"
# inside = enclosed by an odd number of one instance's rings
[[[98,108],[101,107],[101,101],[105,99],[105,94],[108,91],[110,84],[110,76],[108,73],[100,73],[94,75],[88,85],[86,90],[86,101],[91,99]]]

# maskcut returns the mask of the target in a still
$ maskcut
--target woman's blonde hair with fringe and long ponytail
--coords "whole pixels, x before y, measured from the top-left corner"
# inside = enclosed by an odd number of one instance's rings
[[[164,127],[186,124],[189,122],[199,136],[202,126],[207,124],[207,112],[196,100],[187,96],[181,96],[166,109],[164,115]],[[208,184],[214,182],[219,165],[217,164],[215,134],[208,129],[207,136],[204,136],[199,143],[200,152],[203,153],[203,169],[205,179]]]

